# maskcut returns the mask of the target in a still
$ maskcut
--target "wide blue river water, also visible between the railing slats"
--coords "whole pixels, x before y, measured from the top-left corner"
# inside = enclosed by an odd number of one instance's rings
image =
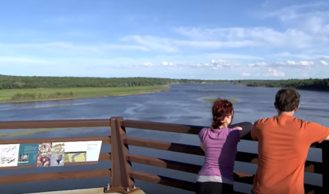
[[[29,121],[29,120],[58,120],[58,119],[108,119],[110,117],[124,117],[141,121],[158,121],[164,123],[182,123],[189,125],[210,125],[211,104],[202,101],[202,98],[234,97],[239,100],[234,104],[234,122],[251,121],[263,117],[272,117],[276,114],[273,108],[276,88],[252,88],[245,86],[234,86],[232,84],[178,84],[172,85],[171,89],[162,93],[145,95],[131,95],[120,97],[104,97],[98,99],[75,99],[69,101],[43,101],[25,104],[0,104],[0,121]],[[300,110],[295,114],[300,119],[315,121],[322,125],[329,126],[326,115],[329,111],[329,93],[304,91]],[[14,132],[15,130],[8,130]],[[3,130],[0,131],[4,132]],[[89,129],[89,130],[62,130],[59,132],[43,132],[33,134],[25,138],[53,138],[67,136],[105,136],[110,134],[109,128]],[[127,135],[136,138],[147,138],[158,141],[171,141],[174,143],[185,143],[189,145],[199,145],[199,140],[195,135],[175,134],[169,132],[156,132],[151,130],[127,129]],[[19,138],[19,137],[14,137]],[[2,138],[8,139],[8,138]],[[257,143],[251,141],[241,141],[239,151],[257,153]],[[101,152],[106,152],[110,146],[103,146]],[[190,162],[202,165],[203,157],[180,154],[170,151],[147,149],[130,146],[131,154],[140,154],[178,160],[180,162]],[[321,162],[321,151],[310,149],[308,160]],[[1,170],[0,176],[19,175],[25,173],[46,173],[51,171],[80,171],[88,169],[106,169],[110,167],[110,162],[99,162],[93,166],[76,167],[51,167],[38,169],[14,169]],[[135,171],[145,171],[159,175],[169,176],[182,180],[195,181],[196,175],[160,169],[145,165],[133,164]],[[243,162],[236,162],[236,171],[245,173],[255,173],[256,165]],[[0,185],[1,194],[10,193],[32,193],[41,191],[57,191],[66,189],[84,189],[92,187],[106,186],[110,178],[95,178],[86,180],[64,180],[50,182],[35,182],[26,184]],[[321,175],[306,173],[305,182],[308,184],[322,185]],[[158,184],[150,184],[136,180],[136,186],[141,187],[145,193],[186,193],[192,192],[180,189],[173,189]],[[237,183],[234,184],[237,191],[249,193],[251,185]]]

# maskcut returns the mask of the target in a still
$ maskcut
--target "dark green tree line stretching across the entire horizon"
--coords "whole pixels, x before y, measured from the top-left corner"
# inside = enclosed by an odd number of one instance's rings
[[[85,88],[85,87],[133,87],[157,86],[167,84],[202,84],[202,83],[231,83],[245,86],[263,87],[294,87],[302,90],[329,91],[329,79],[307,80],[187,80],[155,77],[27,77],[0,75],[1,89],[19,88]]]

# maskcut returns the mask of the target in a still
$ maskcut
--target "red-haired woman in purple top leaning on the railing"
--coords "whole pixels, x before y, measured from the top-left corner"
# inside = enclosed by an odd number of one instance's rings
[[[233,169],[237,145],[249,133],[252,123],[232,123],[234,109],[226,99],[217,99],[212,106],[211,128],[199,132],[204,150],[204,165],[197,177],[196,194],[233,193]]]

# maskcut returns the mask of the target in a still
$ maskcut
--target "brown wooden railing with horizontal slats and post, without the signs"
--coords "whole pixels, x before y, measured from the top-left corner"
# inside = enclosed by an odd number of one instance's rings
[[[99,137],[78,137],[78,138],[40,138],[40,139],[18,139],[18,140],[1,140],[0,144],[16,143],[42,143],[42,142],[69,142],[69,141],[102,141],[103,145],[111,144],[110,153],[100,154],[99,161],[111,160],[110,169],[92,170],[92,171],[69,171],[69,172],[51,172],[42,174],[27,175],[8,175],[1,176],[0,184],[13,184],[25,182],[41,182],[48,180],[69,180],[80,178],[102,178],[111,177],[110,186],[104,187],[104,193],[132,193],[136,191],[134,179],[143,180],[172,186],[178,189],[195,191],[195,182],[177,180],[175,178],[164,177],[144,172],[134,171],[132,162],[161,167],[164,169],[173,169],[188,173],[198,173],[200,165],[188,164],[186,162],[177,162],[162,158],[151,158],[130,154],[129,145],[138,147],[147,147],[152,149],[161,149],[175,151],[184,154],[193,154],[204,156],[204,151],[199,146],[184,145],[180,143],[170,143],[162,141],[151,141],[141,138],[130,138],[126,136],[125,128],[137,128],[143,130],[156,130],[162,132],[175,132],[181,134],[198,134],[202,126],[179,125],[170,123],[156,123],[147,121],[124,120],[122,117],[112,117],[110,120],[65,120],[65,121],[10,121],[0,122],[0,130],[8,129],[37,129],[37,128],[93,128],[93,127],[110,127],[109,136]],[[251,141],[248,134],[243,138]],[[328,142],[313,144],[311,147],[317,147],[322,150],[322,162],[306,161],[305,171],[309,173],[322,174],[323,186],[304,184],[306,193],[329,193],[329,145]],[[327,154],[326,154],[327,153]],[[258,163],[258,155],[238,151],[236,161]],[[95,165],[97,162],[70,162],[66,165]],[[284,164],[282,164],[284,165]],[[21,169],[35,168],[36,165],[25,165],[18,167],[2,167],[1,169]],[[252,184],[252,174],[234,172],[234,181]],[[143,188],[142,188],[143,189]],[[236,191],[236,193],[239,193]]]

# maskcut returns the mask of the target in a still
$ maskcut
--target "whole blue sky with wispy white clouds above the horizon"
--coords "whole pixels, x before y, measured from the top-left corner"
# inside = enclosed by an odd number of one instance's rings
[[[324,78],[329,1],[0,0],[0,74]]]

